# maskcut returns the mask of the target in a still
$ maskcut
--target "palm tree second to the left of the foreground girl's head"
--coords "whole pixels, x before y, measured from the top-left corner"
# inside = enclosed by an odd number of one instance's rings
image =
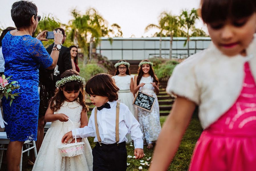
[[[172,41],[173,37],[179,30],[178,16],[171,15],[171,13],[163,12],[160,15],[160,28],[170,36],[170,59],[172,58]]]

